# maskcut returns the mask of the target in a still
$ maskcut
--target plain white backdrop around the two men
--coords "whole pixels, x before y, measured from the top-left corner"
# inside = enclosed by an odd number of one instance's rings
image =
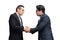
[[[51,27],[55,40],[60,40],[60,1],[59,0],[0,0],[0,40],[9,38],[9,16],[15,12],[18,5],[25,6],[25,13],[22,16],[24,26],[36,27],[38,17],[35,10],[36,5],[42,4],[46,8],[46,14],[50,16]],[[30,34],[23,32],[24,40],[38,40],[38,33]]]

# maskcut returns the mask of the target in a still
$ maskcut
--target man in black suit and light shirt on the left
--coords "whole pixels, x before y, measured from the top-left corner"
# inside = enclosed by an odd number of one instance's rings
[[[23,40],[23,22],[21,16],[24,13],[24,6],[18,5],[16,13],[11,14],[9,18],[10,35],[9,40]]]

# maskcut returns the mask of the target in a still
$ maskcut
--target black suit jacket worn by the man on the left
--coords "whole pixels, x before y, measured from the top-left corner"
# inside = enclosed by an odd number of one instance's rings
[[[12,14],[9,18],[10,36],[9,40],[23,40],[24,31],[23,26],[20,26],[20,21],[16,13]]]

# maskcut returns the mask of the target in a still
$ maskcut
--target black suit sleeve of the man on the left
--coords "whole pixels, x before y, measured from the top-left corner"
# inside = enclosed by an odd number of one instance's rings
[[[24,31],[24,27],[20,27],[16,24],[16,20],[14,16],[10,16],[9,25],[12,29],[17,31]]]

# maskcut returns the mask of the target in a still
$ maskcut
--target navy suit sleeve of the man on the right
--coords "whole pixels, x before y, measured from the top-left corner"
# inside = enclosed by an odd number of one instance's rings
[[[46,27],[45,25],[47,25],[48,23],[49,23],[49,18],[45,17],[43,21],[40,22],[40,24],[36,26],[36,28],[30,29],[30,33],[34,34],[35,32],[42,30],[44,27]]]

